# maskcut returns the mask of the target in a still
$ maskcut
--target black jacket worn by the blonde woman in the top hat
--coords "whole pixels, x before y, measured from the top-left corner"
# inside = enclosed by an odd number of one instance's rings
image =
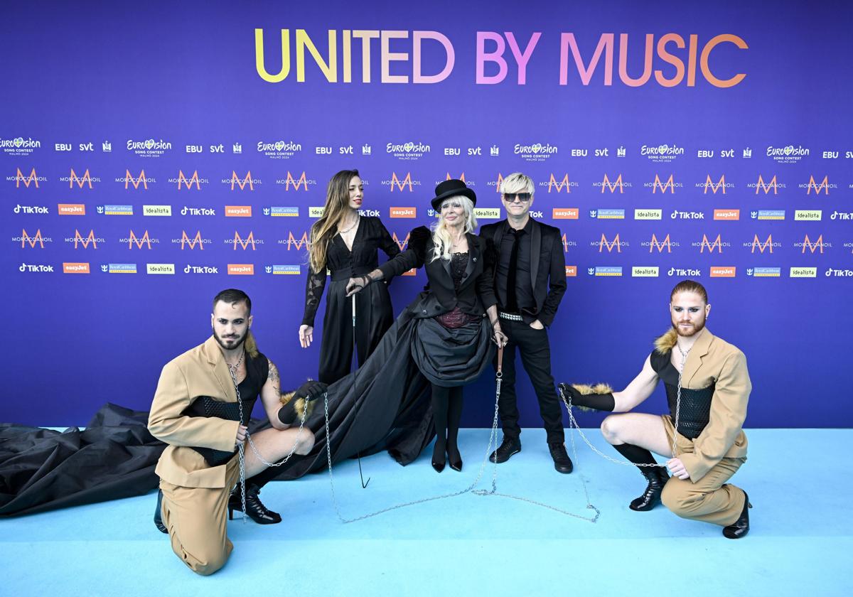
[[[397,257],[381,264],[379,269],[386,279],[401,275],[412,268],[424,268],[429,284],[424,292],[409,305],[409,315],[417,319],[442,315],[456,306],[464,313],[482,316],[485,310],[497,304],[494,289],[493,253],[487,249],[485,239],[468,234],[468,265],[459,285],[453,287],[450,261],[432,260],[432,235],[420,226],[409,233],[409,248]]]

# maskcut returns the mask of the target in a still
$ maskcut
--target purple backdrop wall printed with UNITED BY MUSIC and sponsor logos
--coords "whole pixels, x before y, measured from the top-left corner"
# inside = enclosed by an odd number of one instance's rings
[[[502,216],[501,176],[534,177],[572,266],[558,379],[627,383],[687,272],[709,327],[746,352],[748,426],[850,426],[850,5],[23,4],[0,25],[0,420],[147,409],[223,287],[252,296],[286,385],[316,374],[319,346],[296,333],[303,239],[328,178],[357,167],[364,208],[401,242],[449,175],[481,222]],[[423,283],[395,282],[395,310]],[[492,396],[490,380],[467,391],[463,424],[488,425]]]

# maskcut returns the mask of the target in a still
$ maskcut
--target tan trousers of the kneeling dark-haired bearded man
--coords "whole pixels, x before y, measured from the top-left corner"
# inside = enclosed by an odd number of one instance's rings
[[[225,487],[181,487],[160,479],[161,514],[171,549],[197,574],[218,571],[234,548],[225,526],[228,497],[240,477],[238,460],[235,456],[225,467]]]

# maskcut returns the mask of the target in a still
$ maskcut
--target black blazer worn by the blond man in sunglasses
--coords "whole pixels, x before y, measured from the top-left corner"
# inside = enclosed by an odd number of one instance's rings
[[[531,286],[536,299],[536,312],[524,311],[526,323],[539,320],[550,326],[557,314],[560,300],[566,293],[566,255],[560,229],[533,220],[531,227]],[[485,224],[480,227],[480,236],[489,241],[489,250],[495,254],[500,250],[506,220]],[[538,255],[538,258],[537,258]],[[494,269],[492,270],[494,272]],[[494,273],[493,273],[494,276]],[[492,286],[494,287],[492,278]]]

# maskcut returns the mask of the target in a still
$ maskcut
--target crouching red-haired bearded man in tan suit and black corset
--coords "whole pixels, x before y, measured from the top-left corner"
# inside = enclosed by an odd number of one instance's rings
[[[623,413],[608,416],[601,432],[648,481],[632,510],[663,501],[682,518],[721,525],[723,536],[739,539],[749,531],[751,505],[746,491],[726,481],[746,461],[741,426],[752,386],[743,352],[705,327],[710,311],[705,287],[680,282],[670,295],[672,328],[628,387],[560,384],[560,391],[574,406]],[[658,380],[670,414],[628,412],[652,395]],[[672,478],[652,452],[669,459]]]

